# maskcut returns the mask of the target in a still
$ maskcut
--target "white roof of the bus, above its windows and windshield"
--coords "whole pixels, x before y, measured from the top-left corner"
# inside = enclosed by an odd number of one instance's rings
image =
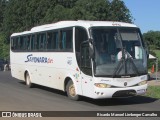
[[[41,26],[33,27],[30,31],[24,31],[20,33],[13,33],[11,36],[25,35],[35,32],[42,32],[46,30],[72,27],[72,26],[82,26],[84,28],[96,27],[96,26],[122,26],[122,27],[137,27],[134,24],[125,23],[125,22],[116,22],[116,21],[60,21],[52,24],[45,24]]]

